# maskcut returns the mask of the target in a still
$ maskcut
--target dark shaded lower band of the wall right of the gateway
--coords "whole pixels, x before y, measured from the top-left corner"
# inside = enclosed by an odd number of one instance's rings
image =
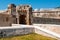
[[[35,17],[33,19],[33,23],[35,23],[35,24],[57,24],[57,25],[60,25],[60,19]]]

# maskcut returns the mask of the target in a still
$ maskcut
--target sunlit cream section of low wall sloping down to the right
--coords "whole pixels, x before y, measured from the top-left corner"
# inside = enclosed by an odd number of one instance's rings
[[[60,39],[59,34],[53,32],[53,31],[50,31],[50,30],[43,29],[41,27],[37,27],[37,26],[35,26],[35,33],[41,34],[44,36],[48,36],[48,37],[52,37],[52,38],[57,38],[57,39],[59,38]]]

